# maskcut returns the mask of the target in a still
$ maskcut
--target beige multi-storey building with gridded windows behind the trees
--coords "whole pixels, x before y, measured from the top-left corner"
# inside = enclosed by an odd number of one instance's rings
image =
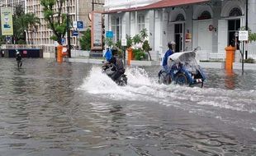
[[[68,3],[69,2],[69,3]],[[40,5],[40,0],[0,0],[2,7],[8,6],[15,9],[16,6],[22,5],[25,8],[26,13],[33,13],[40,18],[40,25],[31,28],[28,30],[29,37],[26,37],[27,44],[36,44],[44,46],[55,46],[56,42],[50,39],[50,36],[53,34],[52,30],[47,28],[47,23],[44,20],[43,7]],[[69,18],[70,25],[73,21],[83,21],[83,29],[79,30],[79,35],[84,30],[87,30],[91,25],[91,22],[88,18],[89,13],[92,12],[92,9],[95,11],[103,11],[104,0],[67,0],[64,2],[63,12],[67,13],[67,8],[69,7]],[[57,7],[54,8],[55,11]],[[72,36],[72,30],[70,31],[71,36],[71,45],[79,45],[78,37]],[[67,36],[67,35],[66,35]],[[67,37],[65,39],[67,41]]]

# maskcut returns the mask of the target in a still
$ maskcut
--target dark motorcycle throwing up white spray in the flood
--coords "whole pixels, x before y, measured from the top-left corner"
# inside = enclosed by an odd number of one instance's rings
[[[112,64],[108,64],[105,63],[102,66],[102,72],[107,74],[107,76],[109,76],[112,79],[112,76],[115,74],[116,70],[115,67]],[[116,82],[117,85],[127,85],[127,77],[126,74],[121,74],[121,76],[119,76],[116,80],[114,80]]]

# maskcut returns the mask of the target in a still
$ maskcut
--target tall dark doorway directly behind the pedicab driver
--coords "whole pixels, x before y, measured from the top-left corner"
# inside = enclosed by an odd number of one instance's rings
[[[175,53],[183,51],[183,23],[174,25]]]

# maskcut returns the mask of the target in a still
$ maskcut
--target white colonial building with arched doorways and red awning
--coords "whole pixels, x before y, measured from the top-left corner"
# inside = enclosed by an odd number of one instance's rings
[[[248,2],[249,29],[256,32],[256,0]],[[228,45],[237,45],[236,57],[242,49],[235,34],[245,27],[246,0],[105,0],[104,7],[114,41],[146,28],[154,53],[164,54],[169,41],[176,42],[176,52],[200,47],[201,60],[224,60]],[[256,58],[254,43],[244,49]]]

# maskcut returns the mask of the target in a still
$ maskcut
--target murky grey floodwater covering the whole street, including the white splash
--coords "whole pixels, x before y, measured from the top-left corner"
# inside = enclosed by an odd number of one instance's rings
[[[160,67],[0,59],[0,155],[256,155],[256,71],[205,69],[204,88],[159,85]]]

